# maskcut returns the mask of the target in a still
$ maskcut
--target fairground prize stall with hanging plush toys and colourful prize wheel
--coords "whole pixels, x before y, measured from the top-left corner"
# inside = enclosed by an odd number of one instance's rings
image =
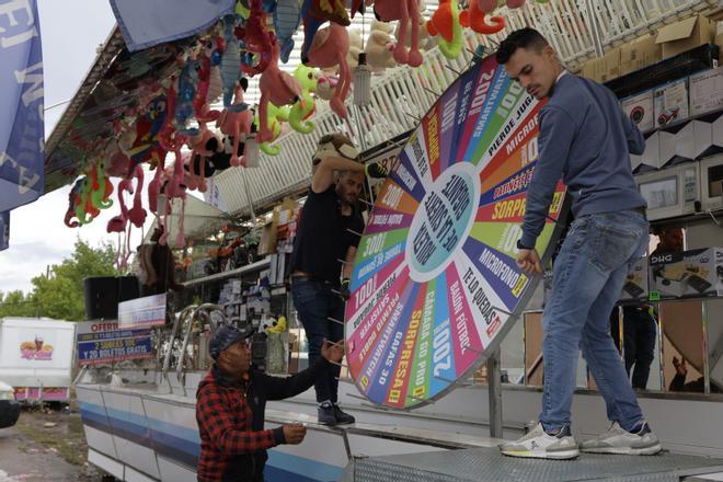
[[[716,2],[207,1],[174,28],[136,2],[112,3],[119,27],[48,140],[46,191],[76,183],[69,227],[107,222],[126,239],[145,226],[145,245],[173,254],[157,274],[175,289],[137,298],[119,280],[90,282],[95,301],[78,333],[90,368],[76,390],[91,463],[128,481],[195,480],[195,390],[220,323],[257,330],[254,362],[268,372],[307,366],[289,253],[317,140],[342,131],[364,161],[390,169],[359,200],[366,229],[337,320],[340,397],[357,423],[317,424],[311,391],[269,403],[268,427],[303,422],[309,433],[269,451],[267,480],[723,477]],[[638,395],[669,450],[661,457],[551,466],[496,448],[527,431],[543,377],[544,279],[515,264],[543,101],[491,55],[526,25],[618,95],[646,138],[631,169],[652,226],[681,236],[678,253],[638,263],[611,324],[623,357],[635,349],[626,307],[645,306],[654,324]],[[115,193],[110,177],[122,180]],[[560,183],[537,245],[546,262],[566,211]],[[119,248],[133,272],[142,246]],[[607,421],[578,367],[573,426],[585,439]]]

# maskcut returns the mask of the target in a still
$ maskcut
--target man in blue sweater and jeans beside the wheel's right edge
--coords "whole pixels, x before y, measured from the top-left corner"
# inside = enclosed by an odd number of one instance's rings
[[[496,58],[530,95],[549,99],[539,114],[540,154],[517,241],[518,266],[542,273],[535,244],[561,177],[575,217],[555,259],[552,296],[542,315],[540,423],[519,440],[502,445],[501,451],[549,459],[574,458],[579,450],[656,454],[661,444],[643,417],[608,323],[629,266],[647,246],[646,204],[630,169],[630,152],[641,154],[645,148],[643,136],[612,92],[567,72],[537,31],[513,32]],[[579,448],[570,429],[578,349],[612,423],[607,433]]]

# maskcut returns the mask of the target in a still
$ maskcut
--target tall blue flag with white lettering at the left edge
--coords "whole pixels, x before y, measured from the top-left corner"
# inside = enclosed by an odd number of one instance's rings
[[[34,202],[44,188],[43,51],[35,0],[0,0],[0,66],[3,213]]]

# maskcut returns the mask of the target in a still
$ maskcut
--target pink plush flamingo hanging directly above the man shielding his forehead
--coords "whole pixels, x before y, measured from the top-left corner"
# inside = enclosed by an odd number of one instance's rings
[[[335,23],[322,28],[308,53],[306,64],[309,67],[328,69],[338,66],[338,83],[334,90],[334,97],[330,101],[331,108],[342,118],[346,118],[344,101],[352,89],[352,73],[346,64],[349,51],[349,35],[341,25]]]

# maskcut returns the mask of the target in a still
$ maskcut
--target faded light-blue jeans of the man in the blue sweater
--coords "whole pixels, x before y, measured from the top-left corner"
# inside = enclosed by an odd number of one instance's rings
[[[612,337],[610,310],[632,263],[647,246],[647,220],[636,210],[582,216],[570,227],[552,272],[542,315],[544,391],[540,422],[570,425],[577,353],[583,351],[608,418],[630,429],[643,418]]]

